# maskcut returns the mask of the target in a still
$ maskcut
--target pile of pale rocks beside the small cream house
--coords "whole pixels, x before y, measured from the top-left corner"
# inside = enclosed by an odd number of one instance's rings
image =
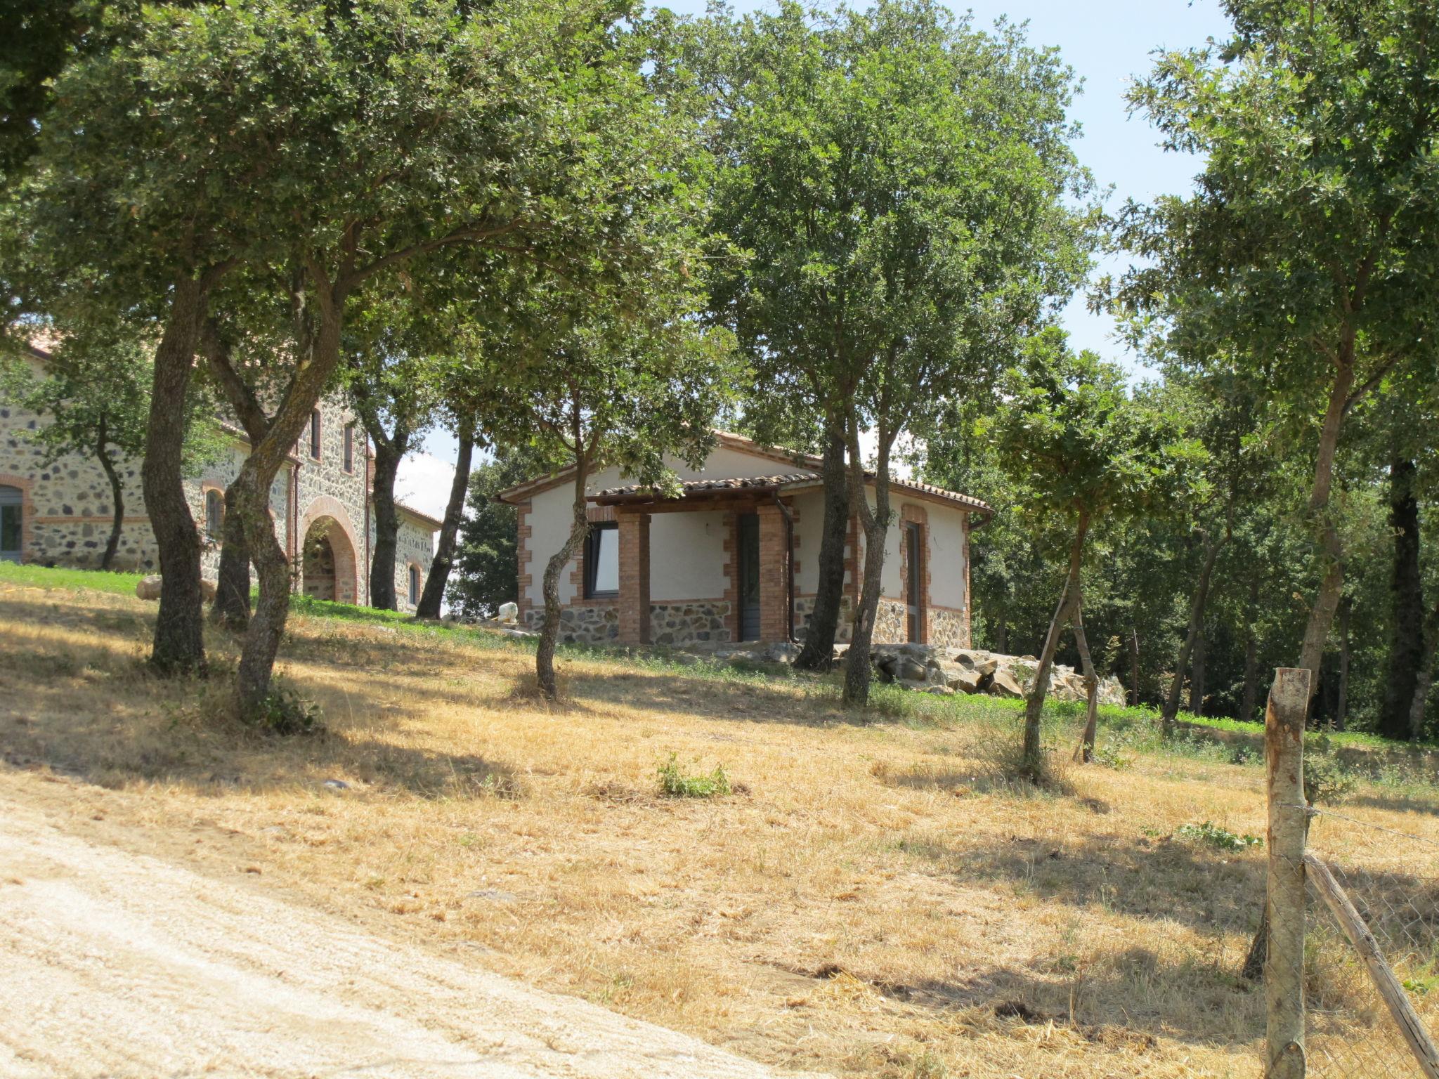
[[[930,645],[875,645],[871,662],[879,680],[928,693],[989,693],[1023,698],[1035,686],[1039,660],[1006,656],[980,649],[938,649]],[[1049,670],[1049,695],[1055,701],[1084,701],[1084,676],[1055,663]],[[1099,704],[1124,705],[1124,686],[1117,678],[1099,680]]]

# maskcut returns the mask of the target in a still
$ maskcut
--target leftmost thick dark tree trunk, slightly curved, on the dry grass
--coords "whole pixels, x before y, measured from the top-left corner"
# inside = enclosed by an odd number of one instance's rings
[[[186,396],[204,318],[206,286],[176,279],[170,315],[155,348],[141,489],[160,555],[160,611],[150,663],[164,675],[204,670],[200,534],[184,495]]]

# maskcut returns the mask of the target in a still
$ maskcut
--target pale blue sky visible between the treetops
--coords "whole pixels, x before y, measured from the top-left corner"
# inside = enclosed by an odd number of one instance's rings
[[[699,14],[705,3],[671,0],[666,6],[682,14]],[[740,12],[763,6],[754,0],[735,3]],[[1109,207],[1118,207],[1125,199],[1147,200],[1189,188],[1199,170],[1197,161],[1161,151],[1148,124],[1125,112],[1124,91],[1132,78],[1150,69],[1154,49],[1203,45],[1206,37],[1223,39],[1229,24],[1217,0],[984,0],[951,7],[973,12],[981,27],[1000,17],[1027,23],[1033,45],[1059,47],[1065,62],[1084,79],[1084,92],[1072,108],[1084,128],[1076,151],[1101,187],[1114,188]],[[1111,268],[1120,269],[1122,263],[1115,260]],[[1134,358],[1112,340],[1111,319],[1086,312],[1082,295],[1065,311],[1065,327],[1075,347],[1092,348],[1132,365]],[[443,432],[432,434],[425,453],[414,455],[401,468],[401,498],[440,516],[449,496],[453,460],[453,437]]]

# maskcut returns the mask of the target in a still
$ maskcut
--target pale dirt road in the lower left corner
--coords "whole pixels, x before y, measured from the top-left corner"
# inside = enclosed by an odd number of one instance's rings
[[[766,1079],[0,796],[0,1076]]]

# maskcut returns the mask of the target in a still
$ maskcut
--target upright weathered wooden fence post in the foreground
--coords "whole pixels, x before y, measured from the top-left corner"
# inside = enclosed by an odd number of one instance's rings
[[[1263,962],[1265,1076],[1304,1079],[1304,721],[1309,711],[1309,672],[1274,672],[1265,711],[1265,777],[1269,797],[1269,875],[1265,916],[1269,941]]]

